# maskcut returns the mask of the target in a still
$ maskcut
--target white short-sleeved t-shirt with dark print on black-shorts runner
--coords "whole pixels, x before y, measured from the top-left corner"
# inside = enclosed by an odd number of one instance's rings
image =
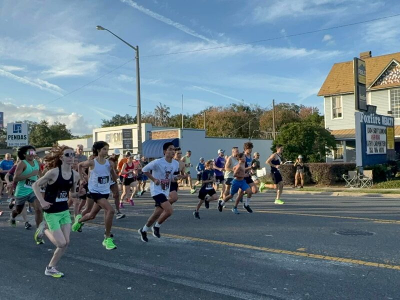
[[[153,181],[150,182],[151,196],[155,196],[160,193],[168,196],[169,184],[173,177],[173,173],[179,171],[179,162],[177,162],[175,159],[172,159],[171,162],[168,162],[164,157],[158,158],[145,165],[141,171],[143,173],[151,171],[151,175],[160,181],[159,185],[155,185]]]

